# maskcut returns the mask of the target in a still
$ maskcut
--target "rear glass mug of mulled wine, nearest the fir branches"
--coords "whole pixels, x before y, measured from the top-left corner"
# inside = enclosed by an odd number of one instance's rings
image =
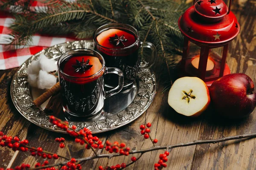
[[[151,67],[157,57],[156,47],[150,42],[141,42],[139,32],[134,27],[122,23],[110,23],[96,29],[93,35],[94,50],[102,54],[107,67],[116,67],[124,74],[124,87],[133,84],[139,68]],[[150,61],[140,67],[140,48],[150,48]],[[113,88],[118,77],[108,74],[105,85]]]

